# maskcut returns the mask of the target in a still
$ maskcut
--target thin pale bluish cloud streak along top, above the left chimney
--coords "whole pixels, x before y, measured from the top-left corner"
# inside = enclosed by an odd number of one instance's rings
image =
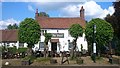
[[[76,2],[37,2],[34,3],[36,7],[40,7],[44,11],[54,11],[54,10],[59,10],[63,7],[66,7],[68,5],[77,5],[82,2],[76,3]]]

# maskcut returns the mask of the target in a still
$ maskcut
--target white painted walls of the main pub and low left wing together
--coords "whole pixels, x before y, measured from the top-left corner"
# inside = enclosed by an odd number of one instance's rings
[[[64,38],[52,38],[52,39],[59,39],[58,45],[57,45],[57,52],[60,51],[69,51],[69,43],[68,40],[70,40],[70,42],[73,41],[73,37],[70,36],[68,29],[43,29],[43,30],[47,30],[47,33],[64,33]],[[40,42],[44,42],[45,37],[43,35],[41,35],[40,37],[40,41],[35,44],[33,50],[39,50],[39,46],[40,46]],[[85,34],[83,34],[82,37],[79,37],[77,39],[77,47],[78,50],[81,51],[81,44],[83,45],[83,49],[88,50],[88,44],[87,41],[85,40]],[[0,46],[4,45],[4,43],[0,43]],[[7,43],[5,43],[5,45],[7,45]],[[19,41],[17,41],[16,43],[9,43],[10,47],[16,46],[17,48],[19,47]],[[60,46],[59,46],[60,45]],[[27,43],[24,43],[24,47],[27,47]],[[48,47],[49,47],[49,51],[51,51],[51,42],[48,42]],[[40,51],[43,51],[40,50]]]

